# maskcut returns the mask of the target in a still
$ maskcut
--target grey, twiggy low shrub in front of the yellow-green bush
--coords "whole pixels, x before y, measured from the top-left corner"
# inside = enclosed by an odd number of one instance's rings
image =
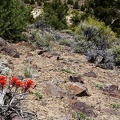
[[[77,36],[75,41],[74,51],[86,55],[89,62],[105,69],[114,68],[114,56],[104,40],[99,39],[96,44],[93,41],[87,41],[87,37],[81,35]]]

